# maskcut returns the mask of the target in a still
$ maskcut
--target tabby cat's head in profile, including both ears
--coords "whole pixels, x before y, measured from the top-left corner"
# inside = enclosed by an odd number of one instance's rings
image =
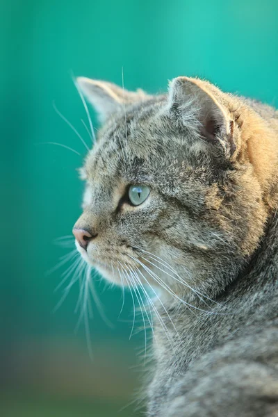
[[[117,284],[217,293],[254,252],[267,216],[231,98],[186,77],[163,96],[78,82],[103,122],[81,170],[81,256]]]

